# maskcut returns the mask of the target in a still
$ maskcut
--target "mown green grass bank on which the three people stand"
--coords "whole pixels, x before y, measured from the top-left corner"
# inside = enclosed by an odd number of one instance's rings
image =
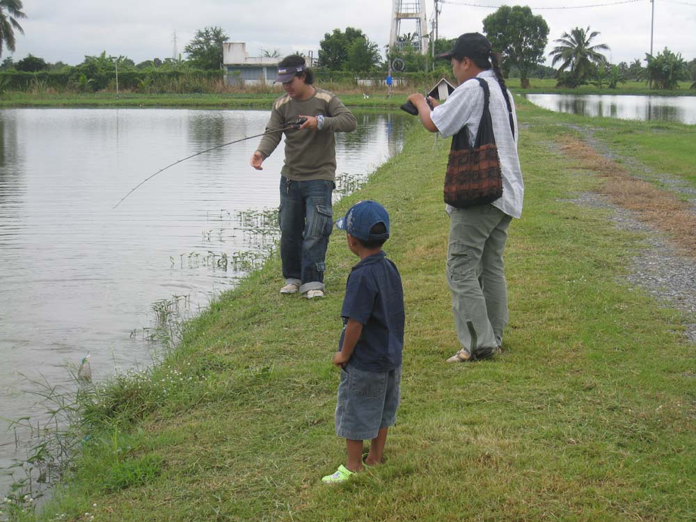
[[[614,197],[625,184],[607,166],[690,201],[693,212],[696,129],[516,103],[526,191],[522,219],[509,230],[501,356],[444,363],[457,344],[444,275],[449,141],[434,142],[414,125],[403,151],[335,205],[336,216],[365,198],[388,209],[385,250],[404,283],[402,406],[386,464],[342,486],[320,481],[343,458],[331,360],[356,263],[335,232],[325,299],[279,295],[280,262],[271,255],[191,320],[164,361],[86,395],[76,427],[84,440],[70,473],[39,513],[6,504],[2,516],[695,519],[696,345],[686,335],[695,313],[630,276],[651,233],[674,244],[685,269],[696,251],[677,225],[660,226],[658,210],[644,216]],[[617,226],[619,210],[644,228]]]

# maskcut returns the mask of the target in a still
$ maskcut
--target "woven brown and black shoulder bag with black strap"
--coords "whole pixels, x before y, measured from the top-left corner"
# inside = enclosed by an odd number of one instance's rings
[[[486,205],[503,196],[503,175],[489,110],[490,91],[484,79],[475,79],[484,92],[484,109],[476,141],[472,148],[466,125],[452,136],[445,174],[445,203],[457,208]]]

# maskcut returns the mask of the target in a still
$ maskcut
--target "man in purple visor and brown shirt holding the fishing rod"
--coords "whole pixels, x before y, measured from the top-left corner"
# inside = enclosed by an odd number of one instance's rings
[[[357,122],[351,111],[328,90],[312,85],[313,72],[297,54],[278,64],[276,81],[285,95],[276,100],[266,134],[251,157],[261,170],[285,133],[285,164],[280,171],[280,259],[285,285],[281,294],[299,290],[307,299],[324,296],[326,247],[333,229],[331,193],[335,189],[335,132],[351,132]],[[299,129],[287,129],[299,118]]]

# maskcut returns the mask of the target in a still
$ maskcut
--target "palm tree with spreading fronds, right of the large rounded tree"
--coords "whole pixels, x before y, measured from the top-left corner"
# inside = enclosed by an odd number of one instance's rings
[[[599,65],[607,62],[606,56],[600,51],[608,51],[609,46],[606,44],[590,45],[592,39],[599,35],[598,31],[590,33],[590,27],[582,29],[576,27],[570,34],[563,33],[561,38],[553,40],[557,47],[549,53],[553,56],[551,65],[556,65],[561,62],[558,72],[561,73],[568,69],[571,76],[580,83],[585,82],[585,78]]]

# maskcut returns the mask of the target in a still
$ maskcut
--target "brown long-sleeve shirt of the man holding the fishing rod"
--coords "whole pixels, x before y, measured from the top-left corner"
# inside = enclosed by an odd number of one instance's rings
[[[300,115],[324,116],[324,127],[318,129],[286,130],[267,134],[261,139],[258,151],[266,159],[276,150],[285,132],[285,164],[280,171],[293,181],[334,180],[336,175],[335,132],[351,132],[358,125],[355,116],[333,93],[315,88],[309,100],[296,101],[289,95],[273,104],[266,130],[284,127]]]

